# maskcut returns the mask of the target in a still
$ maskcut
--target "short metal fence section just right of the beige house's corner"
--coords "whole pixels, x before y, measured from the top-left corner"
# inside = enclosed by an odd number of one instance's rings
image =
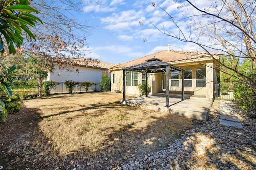
[[[236,101],[236,98],[233,94],[234,91],[234,84],[227,84],[227,83],[218,83],[216,87],[216,100],[227,100],[227,101]]]

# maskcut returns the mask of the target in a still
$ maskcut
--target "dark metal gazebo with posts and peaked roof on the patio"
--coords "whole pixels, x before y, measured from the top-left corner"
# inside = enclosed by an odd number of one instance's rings
[[[166,104],[165,107],[169,107],[169,73],[172,71],[179,71],[181,72],[181,78],[182,78],[182,90],[181,90],[181,100],[184,100],[184,70],[180,67],[177,67],[175,65],[172,65],[170,63],[163,62],[162,60],[158,58],[151,58],[146,60],[147,62],[141,63],[138,65],[134,65],[131,67],[123,68],[123,101],[126,100],[126,73],[135,71],[135,72],[141,72],[146,73],[146,87],[148,86],[148,74],[149,73],[160,73],[164,72],[166,74]],[[146,97],[148,96],[148,90],[146,88]]]

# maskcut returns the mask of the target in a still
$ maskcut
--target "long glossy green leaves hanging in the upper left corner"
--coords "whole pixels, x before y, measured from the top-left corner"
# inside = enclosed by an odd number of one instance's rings
[[[4,44],[8,46],[8,52],[15,54],[16,47],[23,45],[24,36],[28,35],[29,39],[36,40],[36,37],[30,31],[30,27],[35,27],[38,22],[42,21],[30,14],[38,11],[28,6],[28,0],[1,0],[1,15],[0,15],[0,51],[5,52]],[[4,39],[2,38],[4,36]],[[6,43],[4,43],[4,41]]]

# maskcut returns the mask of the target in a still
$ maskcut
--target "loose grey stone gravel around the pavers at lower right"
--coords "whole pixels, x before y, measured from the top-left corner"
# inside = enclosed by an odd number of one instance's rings
[[[236,109],[243,128],[220,125],[220,101],[214,101],[209,120],[159,152],[133,158],[107,170],[254,170],[256,169],[256,119]]]

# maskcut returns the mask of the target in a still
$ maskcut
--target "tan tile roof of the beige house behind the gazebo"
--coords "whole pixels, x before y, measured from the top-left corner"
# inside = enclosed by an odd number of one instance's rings
[[[217,53],[211,53],[214,56],[217,56]],[[164,62],[173,62],[173,61],[185,61],[189,59],[197,59],[197,58],[206,58],[211,56],[208,53],[205,52],[196,52],[196,51],[170,51],[168,52],[167,50],[159,51],[156,53],[152,53],[150,55],[146,55],[144,57],[140,57],[138,59],[134,59],[132,61],[128,61],[126,63],[122,64],[116,64],[111,69],[117,69],[117,68],[126,68],[126,67],[131,67],[134,65],[138,65],[141,63],[145,63],[147,59],[151,58],[158,58]]]

